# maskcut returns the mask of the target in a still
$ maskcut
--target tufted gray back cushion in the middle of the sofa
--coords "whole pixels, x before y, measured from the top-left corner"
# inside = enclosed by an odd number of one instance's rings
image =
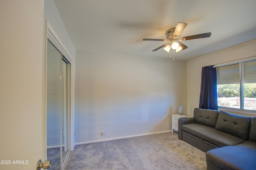
[[[220,111],[216,129],[248,140],[252,118]]]

